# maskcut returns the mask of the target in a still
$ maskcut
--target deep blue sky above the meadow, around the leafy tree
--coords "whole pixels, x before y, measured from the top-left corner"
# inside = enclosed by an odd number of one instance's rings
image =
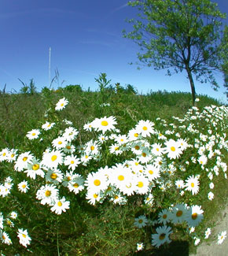
[[[80,84],[84,90],[98,89],[94,78],[105,72],[112,84],[130,83],[139,93],[149,91],[189,91],[186,74],[165,76],[165,70],[137,69],[139,48],[124,39],[122,30],[131,31],[126,18],[136,17],[137,9],[127,0],[1,0],[0,2],[0,90],[20,91],[22,80],[35,81],[38,91],[49,87],[49,49],[51,78],[58,69],[59,85]],[[215,1],[228,13],[227,0]],[[226,101],[222,75],[221,88],[213,91],[197,83],[197,94]]]

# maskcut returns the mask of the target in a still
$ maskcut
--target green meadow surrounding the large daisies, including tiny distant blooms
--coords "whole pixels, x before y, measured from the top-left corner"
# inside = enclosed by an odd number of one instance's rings
[[[61,98],[66,98],[68,104],[61,111],[57,111],[55,106]],[[10,176],[12,186],[8,195],[0,196],[0,213],[3,220],[2,228],[0,221],[0,232],[2,236],[3,232],[6,232],[11,241],[9,244],[5,243],[6,237],[0,240],[0,254],[116,256],[166,255],[167,251],[173,255],[188,255],[189,252],[195,252],[195,240],[200,239],[200,243],[205,240],[205,230],[212,230],[215,221],[221,217],[219,214],[227,202],[228,195],[228,145],[225,135],[228,125],[227,107],[223,106],[221,109],[221,102],[205,95],[197,95],[197,98],[199,101],[192,108],[192,96],[189,93],[151,91],[141,95],[131,85],[122,87],[120,84],[116,87],[100,87],[99,91],[83,91],[79,85],[59,87],[57,90],[44,87],[39,93],[24,91],[9,94],[1,91],[0,184],[5,186],[6,177]],[[83,128],[85,124],[103,117],[115,117],[115,126],[118,128],[105,132],[104,135],[109,138],[107,142],[105,139],[105,143],[98,140],[101,132]],[[43,131],[42,124],[47,121],[55,125],[49,131]],[[154,130],[148,138],[140,137],[138,141],[142,143],[142,147],[152,149],[155,143],[160,143],[160,146],[165,148],[168,140],[177,141],[179,138],[186,139],[191,145],[181,150],[175,158],[162,154],[160,176],[149,180],[146,193],[135,190],[131,195],[124,195],[117,185],[112,185],[111,188],[106,187],[99,195],[101,199],[93,204],[86,199],[89,185],[75,194],[69,191],[68,187],[63,187],[61,182],[47,181],[46,176],[31,179],[24,173],[27,167],[17,171],[14,168],[17,160],[6,161],[1,154],[3,149],[17,149],[17,157],[24,152],[30,152],[40,160],[46,149],[53,150],[53,139],[61,136],[64,129],[73,127],[79,134],[70,142],[70,146],[75,147],[72,154],[78,157],[83,155],[83,150],[80,151],[79,147],[84,147],[87,142],[96,142],[99,147],[100,153],[95,157],[93,155],[94,158],[86,164],[79,164],[74,170],[74,173],[86,180],[90,173],[97,173],[100,168],[108,166],[111,169],[118,163],[126,163],[128,167],[128,161],[138,159],[138,154],[131,150],[135,141],[129,141],[127,149],[122,151],[123,145],[117,145],[120,154],[116,154],[115,150],[111,153],[109,149],[115,144],[115,135],[127,135],[139,121],[153,122]],[[40,130],[38,139],[28,139],[26,136],[33,129]],[[161,134],[166,139],[160,139]],[[210,144],[211,140],[214,140],[214,143]],[[198,161],[200,148],[207,158],[203,164]],[[153,154],[149,161],[139,163],[143,169],[148,164],[153,165],[157,158]],[[59,165],[58,169],[63,176],[68,171],[68,167],[63,164]],[[46,172],[44,170],[45,174]],[[132,172],[135,174],[136,171]],[[208,178],[209,173],[212,174],[212,179]],[[138,174],[136,172],[138,176],[141,174],[141,170]],[[199,181],[199,189],[196,194],[184,187],[178,189],[175,184],[176,180],[182,180],[186,184],[189,176],[198,176],[196,179]],[[17,185],[22,181],[28,181],[29,188],[26,192],[18,189]],[[211,183],[214,184],[213,188],[209,187]],[[54,184],[57,187],[61,197],[64,196],[70,202],[69,209],[57,214],[51,211],[47,204],[40,203],[36,198],[37,191],[46,184]],[[108,189],[112,193],[108,194]],[[208,198],[209,191],[214,195],[211,200]],[[118,196],[124,198],[120,203],[113,201],[117,192]],[[153,202],[145,202],[147,195],[153,197]],[[164,237],[160,235],[161,245],[156,247],[152,243],[152,235],[156,234],[156,228],[164,225],[164,222],[158,222],[159,213],[164,209],[174,211],[175,205],[185,203],[187,206],[200,206],[204,211],[203,220],[191,233],[186,221],[167,221],[166,225],[172,228],[169,235],[171,243],[163,243]],[[12,211],[17,212],[16,219],[9,217]],[[147,222],[139,228],[134,222],[142,215],[146,217]],[[17,237],[18,228],[26,229],[31,238],[26,247]],[[217,239],[217,235],[211,232],[208,243]],[[142,250],[137,249],[138,243],[143,243]],[[181,254],[178,254],[180,252]]]

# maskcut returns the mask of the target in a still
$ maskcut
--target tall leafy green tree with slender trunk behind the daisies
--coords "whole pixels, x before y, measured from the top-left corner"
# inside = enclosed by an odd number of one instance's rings
[[[140,46],[138,59],[154,69],[186,70],[191,86],[193,105],[196,99],[195,78],[211,83],[215,91],[219,84],[215,71],[227,56],[221,58],[223,37],[222,19],[218,5],[210,0],[141,0],[128,2],[138,8],[138,19],[128,20],[134,30],[123,37]]]

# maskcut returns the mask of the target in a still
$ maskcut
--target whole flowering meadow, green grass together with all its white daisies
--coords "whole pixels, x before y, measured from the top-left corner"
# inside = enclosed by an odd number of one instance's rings
[[[105,81],[0,95],[3,255],[188,254],[213,227],[228,194],[227,107]]]

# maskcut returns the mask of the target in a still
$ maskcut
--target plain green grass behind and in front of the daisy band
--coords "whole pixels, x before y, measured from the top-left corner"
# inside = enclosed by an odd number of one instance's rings
[[[157,91],[138,95],[134,90],[127,91],[122,88],[122,91],[115,91],[110,87],[105,91],[94,92],[83,91],[79,86],[70,86],[60,87],[57,91],[42,90],[41,93],[33,95],[1,93],[0,150],[6,147],[21,150],[32,148],[38,153],[42,146],[38,143],[33,147],[24,136],[31,129],[44,124],[47,120],[46,110],[55,106],[55,103],[63,97],[68,99],[68,107],[58,116],[50,110],[48,117],[54,121],[64,119],[72,121],[73,126],[81,132],[80,140],[91,139],[90,135],[83,131],[83,124],[93,121],[96,117],[116,117],[123,134],[134,127],[139,120],[155,121],[156,128],[162,128],[159,121],[156,121],[157,117],[167,122],[173,122],[173,116],[182,118],[191,107],[192,101],[189,93]],[[204,106],[222,105],[214,98],[204,95],[199,95],[198,98],[200,102],[197,102],[197,107],[200,110]],[[101,106],[103,103],[109,103],[112,107]],[[227,156],[228,154],[224,156],[226,160]],[[6,166],[3,164],[0,165],[1,179],[4,174],[6,174]],[[37,182],[39,183],[39,180]],[[222,209],[228,195],[227,180],[223,176],[216,176],[213,182],[215,199],[202,202],[202,207],[207,209],[204,223],[200,224],[202,237],[204,228],[211,227],[218,219],[219,215],[215,216],[215,213],[219,213]],[[35,192],[31,194],[35,196]],[[187,255],[189,251],[195,250],[193,240],[183,235],[182,228],[173,235],[174,242],[155,250],[150,244],[151,231],[143,232],[142,229],[133,226],[134,217],[143,214],[144,210],[148,215],[154,214],[153,210],[144,209],[140,197],[137,200],[131,198],[125,206],[113,205],[110,202],[104,202],[102,206],[90,206],[85,202],[83,195],[75,195],[70,210],[61,216],[50,213],[47,207],[37,203],[31,207],[28,204],[29,199],[29,196],[14,191],[11,203],[13,202],[13,210],[20,206],[20,223],[17,224],[26,223],[28,229],[32,231],[32,243],[29,249],[31,248],[34,255],[166,255],[167,251],[173,252],[174,255],[186,251]],[[13,233],[12,236],[16,239]],[[148,242],[142,252],[137,252],[135,249],[136,243],[140,242],[139,238]],[[12,248],[0,245],[0,252],[1,249],[6,255],[31,254],[31,251],[21,246]]]

